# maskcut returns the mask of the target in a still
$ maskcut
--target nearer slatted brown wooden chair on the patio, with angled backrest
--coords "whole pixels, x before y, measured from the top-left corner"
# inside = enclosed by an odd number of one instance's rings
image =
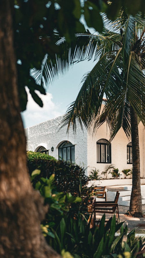
[[[116,192],[114,201],[95,201],[93,203],[94,222],[96,221],[96,213],[110,213],[114,214],[116,211],[117,223],[119,222],[119,210],[118,210],[118,198],[119,192]]]

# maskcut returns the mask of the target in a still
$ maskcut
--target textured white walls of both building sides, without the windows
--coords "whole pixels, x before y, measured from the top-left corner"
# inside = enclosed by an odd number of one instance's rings
[[[58,159],[58,147],[60,143],[68,140],[75,145],[76,164],[85,168],[88,167],[86,174],[89,174],[92,168],[99,169],[102,172],[107,164],[97,163],[96,142],[102,138],[109,140],[110,133],[106,124],[104,123],[97,130],[94,137],[92,137],[92,134],[88,134],[85,128],[83,133],[79,127],[77,127],[77,135],[74,135],[72,130],[69,131],[69,135],[66,135],[67,127],[58,131],[61,119],[62,116],[26,128],[27,150],[36,151],[39,146],[44,146],[49,150],[49,155]],[[121,128],[111,142],[111,163],[119,169],[120,174],[122,174],[121,178],[124,178],[121,171],[132,167],[132,164],[127,164],[127,144],[130,141],[128,141]],[[51,151],[52,146],[54,147],[53,152]],[[139,148],[141,177],[145,177],[145,130],[141,122],[139,123]],[[108,178],[110,177],[111,174],[109,174]]]

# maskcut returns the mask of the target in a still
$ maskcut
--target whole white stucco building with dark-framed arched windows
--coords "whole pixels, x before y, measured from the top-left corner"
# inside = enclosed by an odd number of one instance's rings
[[[63,158],[72,163],[84,166],[89,175],[91,169],[104,170],[106,165],[114,164],[119,169],[132,167],[132,147],[123,129],[121,128],[110,146],[109,129],[104,123],[94,137],[79,128],[75,135],[72,130],[66,135],[67,127],[60,128],[62,116],[25,129],[27,138],[27,150],[48,151],[49,155],[56,159]],[[139,123],[139,148],[141,177],[145,177],[145,130]],[[53,147],[53,148],[52,148]],[[47,153],[48,153],[47,152]],[[123,174],[123,173],[121,173]],[[121,177],[124,177],[123,175]]]

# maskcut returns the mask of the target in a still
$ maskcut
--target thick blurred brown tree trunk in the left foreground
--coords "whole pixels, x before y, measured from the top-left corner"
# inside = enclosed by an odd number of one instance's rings
[[[46,207],[32,189],[20,116],[11,0],[0,1],[0,257],[60,257],[41,234]]]

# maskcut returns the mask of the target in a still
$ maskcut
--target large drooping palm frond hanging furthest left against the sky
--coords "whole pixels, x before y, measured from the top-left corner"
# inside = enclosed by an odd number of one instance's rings
[[[81,128],[83,128],[83,123],[86,129],[91,131],[94,121],[100,113],[104,93],[106,96],[110,95],[113,86],[117,86],[116,78],[120,77],[120,73],[116,67],[121,66],[120,51],[121,49],[117,55],[114,54],[114,51],[106,53],[99,59],[92,71],[86,74],[75,102],[71,104],[62,120],[62,127],[68,124],[68,131],[71,126],[76,131],[76,123],[79,122]],[[110,84],[113,84],[112,88],[109,86]]]

